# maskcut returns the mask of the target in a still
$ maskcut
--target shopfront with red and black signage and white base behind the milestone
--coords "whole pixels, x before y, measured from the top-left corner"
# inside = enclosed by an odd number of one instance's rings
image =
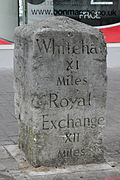
[[[100,29],[108,67],[120,67],[120,0],[0,0],[0,67],[13,68],[15,27],[54,15]]]

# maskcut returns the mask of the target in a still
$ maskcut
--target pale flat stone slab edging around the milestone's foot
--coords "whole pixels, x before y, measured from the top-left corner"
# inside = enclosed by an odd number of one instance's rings
[[[18,145],[5,146],[7,152],[17,161],[20,169],[31,178],[40,180],[71,180],[73,177],[81,179],[84,175],[99,174],[99,172],[113,172],[114,168],[108,163],[86,164],[78,166],[67,166],[62,168],[32,167],[26,160],[24,153],[18,148]]]

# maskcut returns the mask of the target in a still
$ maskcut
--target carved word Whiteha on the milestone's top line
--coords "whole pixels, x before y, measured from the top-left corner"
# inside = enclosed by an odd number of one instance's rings
[[[61,40],[60,43],[56,42],[54,38],[42,39],[39,42],[39,39],[36,39],[37,45],[40,53],[43,51],[45,53],[54,54],[98,54],[99,51],[94,44],[88,45],[84,40],[76,42],[75,45],[66,42],[65,39]]]

